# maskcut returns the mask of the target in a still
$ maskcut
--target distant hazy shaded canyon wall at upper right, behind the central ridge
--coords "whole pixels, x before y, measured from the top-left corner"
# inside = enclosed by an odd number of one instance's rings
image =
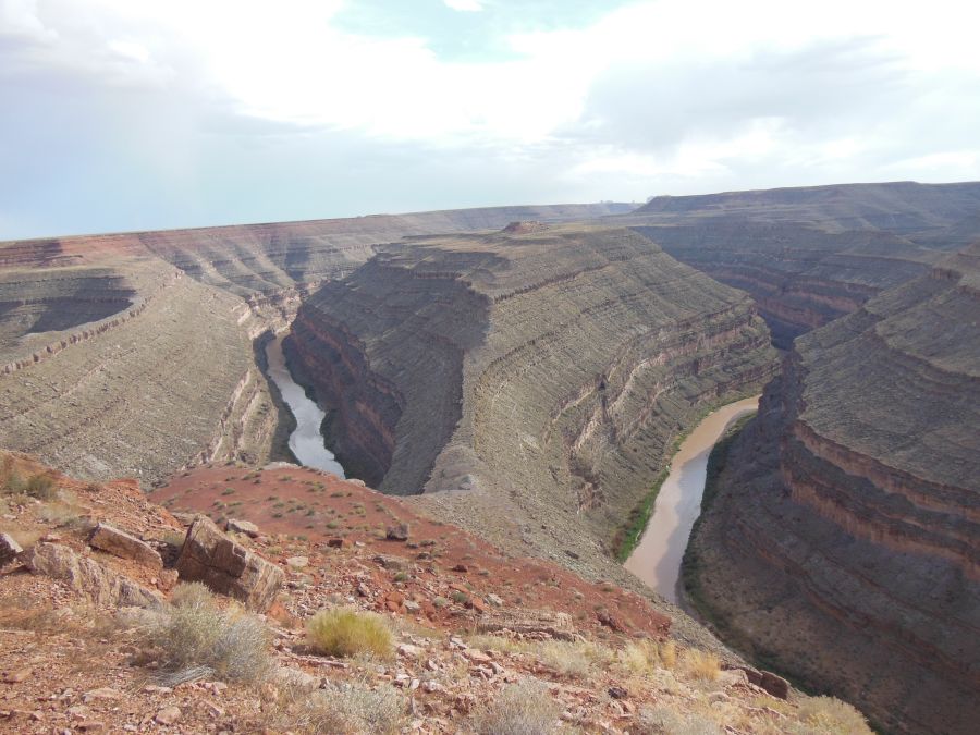
[[[980,236],[980,184],[852,184],[656,197],[615,218],[750,293],[787,350]]]

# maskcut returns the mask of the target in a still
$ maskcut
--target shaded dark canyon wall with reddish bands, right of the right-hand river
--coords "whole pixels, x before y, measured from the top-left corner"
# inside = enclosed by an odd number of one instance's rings
[[[723,637],[899,733],[980,722],[980,245],[796,341],[689,549]]]

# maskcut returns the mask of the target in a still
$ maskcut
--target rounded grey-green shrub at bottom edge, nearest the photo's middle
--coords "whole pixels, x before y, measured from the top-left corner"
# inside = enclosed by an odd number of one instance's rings
[[[548,735],[559,731],[562,708],[534,678],[509,684],[473,718],[479,735]]]

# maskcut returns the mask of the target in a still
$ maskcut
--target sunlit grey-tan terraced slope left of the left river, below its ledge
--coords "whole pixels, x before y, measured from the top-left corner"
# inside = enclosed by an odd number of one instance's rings
[[[241,301],[159,261],[133,280],[138,307],[7,353],[21,359],[0,372],[0,445],[147,482],[195,461],[267,456],[275,416]]]

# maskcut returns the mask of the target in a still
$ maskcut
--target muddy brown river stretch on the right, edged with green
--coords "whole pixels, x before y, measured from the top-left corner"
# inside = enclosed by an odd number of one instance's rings
[[[756,411],[759,396],[722,406],[709,414],[681,444],[670,475],[660,487],[653,514],[626,568],[671,602],[678,601],[681,561],[690,530],[701,512],[708,455],[734,421]]]

